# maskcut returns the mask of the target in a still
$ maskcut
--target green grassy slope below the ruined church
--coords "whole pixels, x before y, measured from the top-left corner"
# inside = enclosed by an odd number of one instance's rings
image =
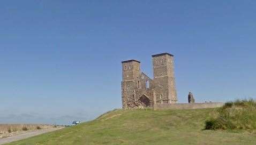
[[[101,117],[11,144],[256,144],[255,133],[205,131],[215,109],[115,110]]]

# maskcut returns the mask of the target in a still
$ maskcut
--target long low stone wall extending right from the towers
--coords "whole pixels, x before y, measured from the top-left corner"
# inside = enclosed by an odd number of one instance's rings
[[[154,110],[166,109],[202,109],[222,107],[224,103],[174,103],[174,104],[154,104]]]

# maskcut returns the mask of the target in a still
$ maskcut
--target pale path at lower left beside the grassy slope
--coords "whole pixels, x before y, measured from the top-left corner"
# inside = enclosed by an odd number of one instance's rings
[[[32,137],[32,136],[43,134],[43,133],[60,130],[62,128],[63,127],[57,127],[57,128],[48,128],[48,129],[42,129],[42,130],[35,130],[35,131],[25,132],[25,133],[22,133],[22,134],[19,134],[19,135],[10,136],[8,138],[0,139],[0,144],[10,143],[10,142],[13,142],[13,141],[18,141],[18,140],[26,139],[26,138],[29,138],[29,137]]]

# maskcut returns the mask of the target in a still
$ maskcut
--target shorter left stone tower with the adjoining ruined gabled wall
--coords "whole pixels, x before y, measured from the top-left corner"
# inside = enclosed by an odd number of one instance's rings
[[[122,63],[123,81],[122,104],[123,109],[138,108],[140,106],[153,107],[153,97],[150,86],[152,80],[140,72],[140,62],[131,60]]]

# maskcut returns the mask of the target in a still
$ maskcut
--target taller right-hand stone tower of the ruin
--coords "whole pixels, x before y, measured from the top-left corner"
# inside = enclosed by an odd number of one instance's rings
[[[156,103],[177,103],[174,76],[174,55],[161,53],[152,55],[154,90]]]

